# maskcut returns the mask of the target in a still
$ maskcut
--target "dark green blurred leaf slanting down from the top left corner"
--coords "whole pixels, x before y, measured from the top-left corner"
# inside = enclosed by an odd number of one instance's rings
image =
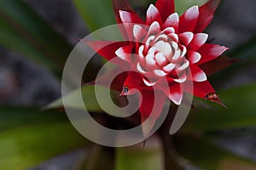
[[[0,43],[25,57],[61,71],[71,46],[21,0],[0,1]]]

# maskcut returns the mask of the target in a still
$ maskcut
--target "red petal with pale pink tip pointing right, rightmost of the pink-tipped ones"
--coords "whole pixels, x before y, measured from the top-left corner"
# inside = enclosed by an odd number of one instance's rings
[[[198,53],[201,54],[201,59],[196,65],[201,65],[206,63],[212,59],[218,58],[221,54],[223,54],[227,49],[224,46],[220,46],[218,44],[206,43],[201,48],[197,50]]]

